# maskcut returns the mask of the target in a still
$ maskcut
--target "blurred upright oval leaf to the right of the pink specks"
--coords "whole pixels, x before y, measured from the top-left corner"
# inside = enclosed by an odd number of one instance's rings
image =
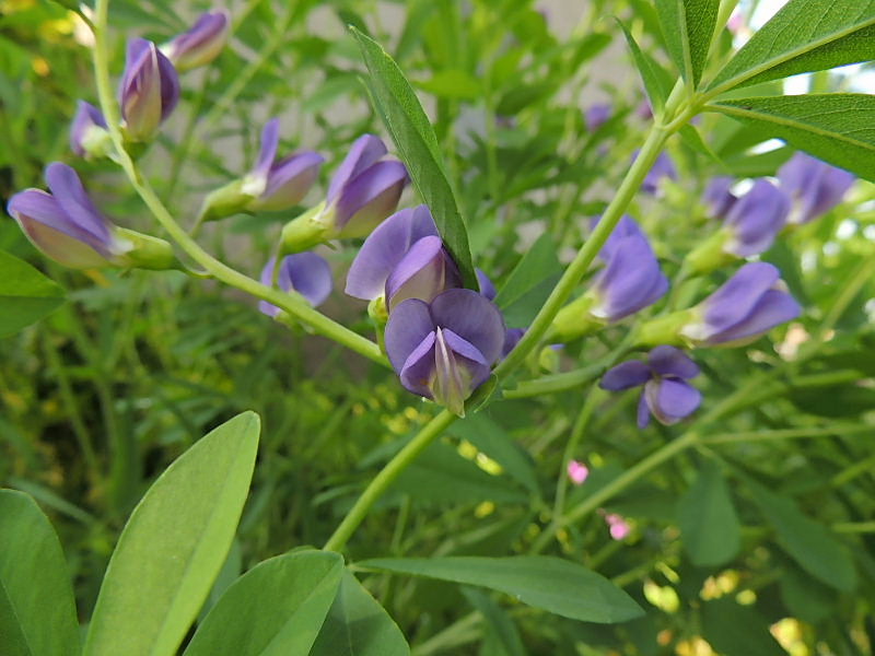
[[[698,567],[722,565],[742,547],[742,526],[720,467],[709,462],[677,504],[684,548]]]

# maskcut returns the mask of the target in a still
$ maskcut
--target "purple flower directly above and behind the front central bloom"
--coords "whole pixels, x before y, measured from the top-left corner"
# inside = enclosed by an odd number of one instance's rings
[[[457,286],[458,268],[421,204],[396,212],[369,235],[349,269],[346,292],[363,301],[383,295],[392,311],[407,298],[429,302]]]

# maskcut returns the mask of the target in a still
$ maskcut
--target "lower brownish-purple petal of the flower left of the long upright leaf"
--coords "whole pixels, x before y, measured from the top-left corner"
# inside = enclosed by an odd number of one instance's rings
[[[377,162],[352,178],[337,199],[342,237],[363,237],[395,211],[407,184],[407,168],[394,160]]]

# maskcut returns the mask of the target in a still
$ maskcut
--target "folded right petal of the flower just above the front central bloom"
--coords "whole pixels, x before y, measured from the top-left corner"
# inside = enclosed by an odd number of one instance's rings
[[[407,298],[421,298],[429,303],[441,292],[458,286],[462,286],[462,276],[441,237],[422,237],[410,247],[386,280],[386,307],[392,312]]]

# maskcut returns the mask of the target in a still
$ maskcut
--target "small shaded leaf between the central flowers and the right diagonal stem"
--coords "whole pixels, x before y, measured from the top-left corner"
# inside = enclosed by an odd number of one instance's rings
[[[526,250],[495,296],[508,325],[528,326],[561,273],[562,265],[556,257],[552,239],[544,233]]]

